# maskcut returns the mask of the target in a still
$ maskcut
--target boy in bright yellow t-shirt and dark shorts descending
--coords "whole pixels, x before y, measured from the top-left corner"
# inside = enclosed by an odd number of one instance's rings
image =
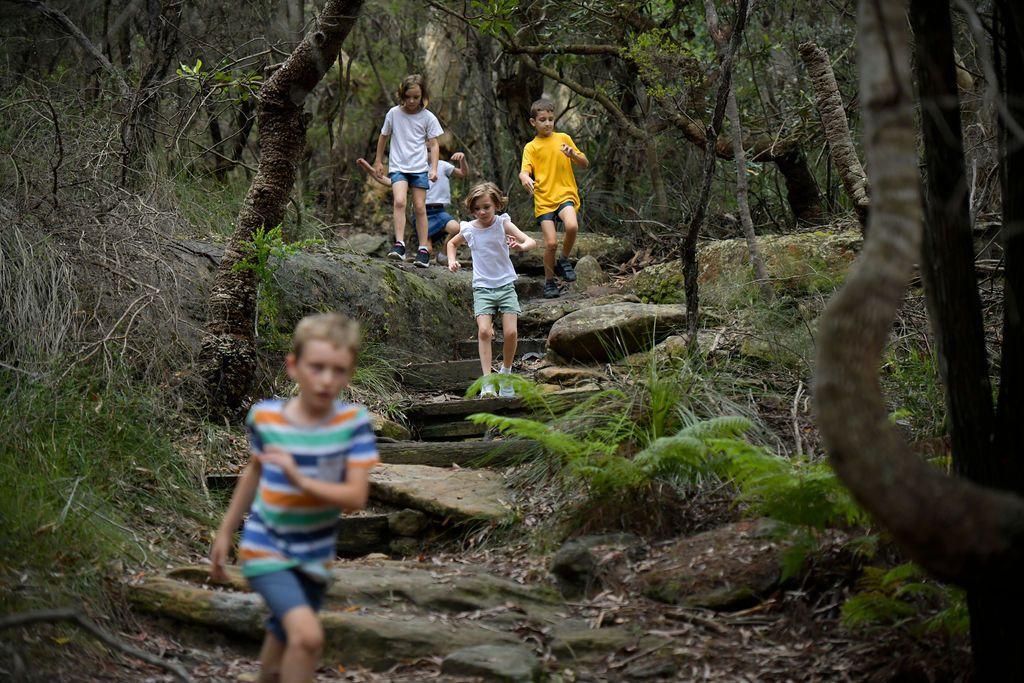
[[[590,160],[580,152],[572,138],[565,133],[555,132],[555,103],[542,97],[529,108],[529,125],[537,136],[522,150],[522,164],[519,181],[534,197],[534,215],[544,233],[544,296],[558,297],[555,275],[566,282],[575,281],[575,271],[569,263],[569,253],[575,244],[580,223],[577,212],[580,209],[580,190],[577,188],[572,164],[587,167]],[[562,255],[557,259],[558,234],[555,221],[565,227],[562,240]]]

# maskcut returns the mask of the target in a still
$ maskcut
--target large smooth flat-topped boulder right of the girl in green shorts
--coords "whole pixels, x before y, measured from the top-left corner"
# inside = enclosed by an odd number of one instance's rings
[[[686,308],[645,303],[581,308],[557,321],[548,347],[571,360],[613,360],[649,349],[686,325]]]

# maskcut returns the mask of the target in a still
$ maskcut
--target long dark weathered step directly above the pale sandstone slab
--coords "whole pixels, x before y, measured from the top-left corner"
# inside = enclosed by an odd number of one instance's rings
[[[505,399],[509,400],[509,399]],[[472,423],[466,423],[472,425]],[[383,441],[377,444],[381,462],[391,465],[431,465],[434,467],[474,467],[509,465],[518,462],[537,447],[537,441],[509,439],[500,441]],[[236,473],[208,474],[209,488],[224,489],[234,486]]]

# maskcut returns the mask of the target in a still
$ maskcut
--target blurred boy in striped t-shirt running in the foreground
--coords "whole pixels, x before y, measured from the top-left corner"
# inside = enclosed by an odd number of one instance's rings
[[[366,507],[378,462],[367,410],[338,400],[358,353],[358,327],[338,313],[299,322],[286,358],[299,393],[262,400],[246,428],[253,458],[210,551],[210,574],[226,579],[231,535],[249,511],[242,573],[270,609],[261,681],[312,681],[324,645],[316,611],[335,557],[338,512]]]

